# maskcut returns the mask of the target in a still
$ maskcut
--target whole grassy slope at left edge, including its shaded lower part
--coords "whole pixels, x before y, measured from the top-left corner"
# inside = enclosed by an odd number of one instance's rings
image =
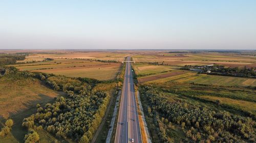
[[[0,78],[0,90],[2,91],[0,93],[1,126],[7,118],[14,120],[11,134],[1,138],[0,142],[23,142],[27,133],[27,129],[21,126],[23,119],[36,112],[37,103],[44,105],[52,102],[54,97],[61,95],[46,88],[37,79],[22,77],[18,79]],[[42,140],[45,140],[44,136],[41,136]]]

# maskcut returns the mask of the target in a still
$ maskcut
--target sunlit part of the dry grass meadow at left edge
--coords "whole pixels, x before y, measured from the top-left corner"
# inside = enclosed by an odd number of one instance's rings
[[[7,119],[36,103],[50,101],[59,94],[32,78],[0,78],[0,116]]]

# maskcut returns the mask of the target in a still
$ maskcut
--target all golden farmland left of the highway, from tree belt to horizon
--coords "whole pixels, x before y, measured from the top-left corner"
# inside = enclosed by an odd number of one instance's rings
[[[117,62],[123,61],[126,55],[102,52],[33,53],[29,54],[24,61],[17,62],[20,64],[12,66],[23,71],[110,80],[116,78],[121,67],[121,64]],[[46,61],[47,58],[52,60]],[[34,59],[34,62],[26,61],[27,59]],[[45,61],[39,62],[42,60]]]

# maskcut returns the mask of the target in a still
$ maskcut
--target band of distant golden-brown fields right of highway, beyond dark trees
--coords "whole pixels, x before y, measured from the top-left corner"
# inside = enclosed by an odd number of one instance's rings
[[[158,62],[163,65],[211,65],[219,64],[226,67],[255,67],[256,57],[253,55],[226,54],[217,52],[206,53],[155,53],[137,54],[133,56],[134,61],[139,63]]]

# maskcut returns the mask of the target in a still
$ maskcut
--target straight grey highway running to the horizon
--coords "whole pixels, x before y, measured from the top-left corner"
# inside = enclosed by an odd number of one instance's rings
[[[130,60],[131,57],[127,57],[127,61]],[[134,142],[141,142],[132,68],[131,63],[126,63],[115,143],[132,142],[132,138]]]

